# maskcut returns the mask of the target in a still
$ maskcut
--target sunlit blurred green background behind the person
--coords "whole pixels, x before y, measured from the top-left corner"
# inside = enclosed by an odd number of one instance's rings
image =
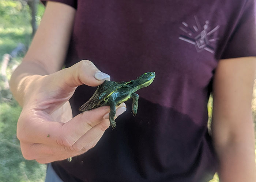
[[[21,108],[14,100],[8,84],[12,72],[29,47],[43,13],[44,5],[39,0],[0,0],[0,182],[45,180],[46,165],[22,157],[16,137]],[[256,87],[252,110],[256,123]],[[212,98],[208,103],[208,111],[210,123]],[[210,182],[219,182],[218,175]]]

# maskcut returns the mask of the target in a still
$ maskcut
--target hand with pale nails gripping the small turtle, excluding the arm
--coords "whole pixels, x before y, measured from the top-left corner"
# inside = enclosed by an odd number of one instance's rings
[[[68,100],[77,86],[98,86],[110,77],[83,60],[50,75],[32,75],[24,95],[17,137],[26,159],[39,163],[80,155],[96,145],[109,127],[109,106],[85,111],[72,118]],[[117,115],[126,110],[117,107]],[[116,116],[117,117],[117,116]]]

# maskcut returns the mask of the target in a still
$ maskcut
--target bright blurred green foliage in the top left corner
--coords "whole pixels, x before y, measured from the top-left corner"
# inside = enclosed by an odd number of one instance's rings
[[[0,1],[0,56],[10,53],[17,43],[29,45],[30,27],[29,7],[25,1]]]

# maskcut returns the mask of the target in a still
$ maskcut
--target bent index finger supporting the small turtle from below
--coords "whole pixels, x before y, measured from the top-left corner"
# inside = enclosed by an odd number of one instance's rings
[[[91,127],[100,123],[109,111],[109,106],[98,107],[62,123],[53,121],[44,111],[31,110],[20,115],[17,137],[29,143],[72,146]]]

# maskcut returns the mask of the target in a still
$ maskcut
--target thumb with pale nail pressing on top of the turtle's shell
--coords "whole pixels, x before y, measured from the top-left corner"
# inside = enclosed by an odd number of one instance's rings
[[[82,60],[69,68],[65,68],[55,74],[55,83],[61,84],[61,88],[75,88],[79,85],[98,86],[105,80],[110,80],[110,76],[98,70],[98,68],[89,60]]]

